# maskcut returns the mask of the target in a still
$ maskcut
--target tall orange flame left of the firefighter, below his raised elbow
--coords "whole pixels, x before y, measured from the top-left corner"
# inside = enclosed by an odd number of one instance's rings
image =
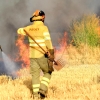
[[[28,68],[30,66],[29,61],[29,45],[24,43],[24,36],[20,36],[16,41],[18,47],[18,57],[16,61],[22,61],[22,68]]]

